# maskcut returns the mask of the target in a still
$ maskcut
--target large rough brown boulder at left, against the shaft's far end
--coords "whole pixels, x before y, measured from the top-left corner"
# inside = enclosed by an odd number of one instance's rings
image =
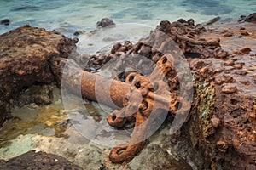
[[[55,82],[50,60],[67,58],[74,47],[58,32],[31,26],[0,36],[0,125],[8,117],[9,100],[34,83]]]

